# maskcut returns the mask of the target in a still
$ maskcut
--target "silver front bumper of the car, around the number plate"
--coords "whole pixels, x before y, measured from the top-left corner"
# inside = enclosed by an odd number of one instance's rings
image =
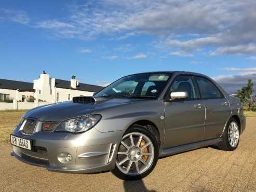
[[[36,132],[24,135],[19,127],[12,133],[33,141],[33,151],[13,146],[11,155],[25,163],[45,167],[49,171],[95,173],[112,170],[124,131],[99,132],[92,128],[85,133]],[[58,155],[71,154],[70,162],[61,162]]]

